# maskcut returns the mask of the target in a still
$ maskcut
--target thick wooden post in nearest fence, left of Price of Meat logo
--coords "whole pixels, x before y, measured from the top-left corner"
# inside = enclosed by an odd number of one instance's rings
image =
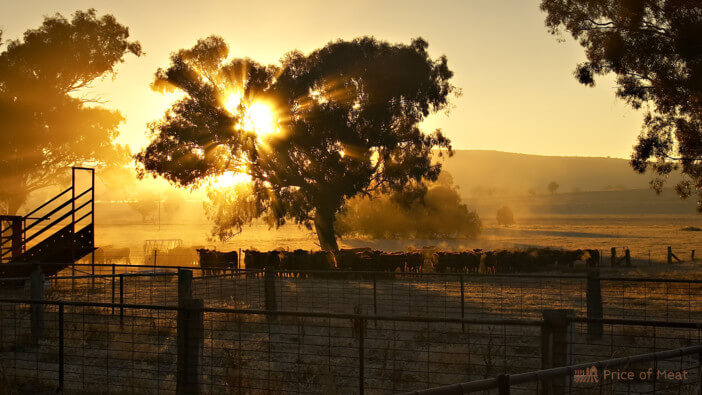
[[[544,310],[541,326],[541,369],[572,364],[573,310]],[[547,379],[541,385],[541,394],[562,393],[568,388],[569,377]]]

